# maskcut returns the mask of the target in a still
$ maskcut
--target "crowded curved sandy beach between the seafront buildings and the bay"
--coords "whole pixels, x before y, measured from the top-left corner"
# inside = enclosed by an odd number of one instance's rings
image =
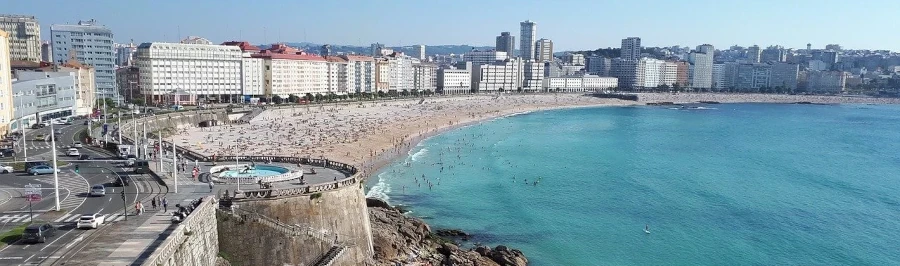
[[[546,109],[699,101],[897,104],[900,99],[770,94],[646,93],[624,101],[580,94],[475,95],[269,109],[249,124],[185,128],[179,145],[207,155],[324,157],[371,174],[434,134],[479,121]]]

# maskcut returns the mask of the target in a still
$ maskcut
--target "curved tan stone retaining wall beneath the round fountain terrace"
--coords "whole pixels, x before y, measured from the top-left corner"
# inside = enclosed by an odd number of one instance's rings
[[[359,184],[324,192],[321,196],[299,196],[270,200],[235,202],[240,209],[252,210],[284,224],[300,224],[317,228],[329,240],[337,234],[337,242],[347,246],[334,265],[365,265],[374,254],[366,199]],[[313,197],[317,197],[313,199]],[[246,226],[246,225],[244,225]],[[304,265],[310,256],[324,254],[330,243],[305,241],[304,238],[273,237],[270,229],[259,225],[238,228],[223,223],[220,230],[222,251],[239,258],[242,265],[280,265],[289,263]],[[283,234],[282,234],[283,235]],[[235,245],[231,241],[244,241],[253,245]],[[229,243],[226,243],[229,242]],[[264,244],[269,243],[269,244]],[[278,252],[272,251],[276,246]],[[246,254],[240,256],[239,254]],[[261,255],[267,254],[267,255]],[[305,264],[309,265],[309,264]]]

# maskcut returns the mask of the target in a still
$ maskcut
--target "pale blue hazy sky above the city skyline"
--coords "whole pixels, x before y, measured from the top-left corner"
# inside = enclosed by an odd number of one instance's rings
[[[644,46],[731,45],[900,51],[898,0],[2,0],[2,13],[51,24],[97,19],[118,42],[177,41],[197,35],[219,43],[247,40],[330,44],[494,45],[519,22],[537,23],[554,50],[617,47],[629,36]],[[180,30],[179,30],[180,28]],[[179,35],[180,32],[180,35]]]

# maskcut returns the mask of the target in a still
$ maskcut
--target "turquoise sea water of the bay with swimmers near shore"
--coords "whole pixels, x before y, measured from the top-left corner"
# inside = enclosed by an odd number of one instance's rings
[[[531,265],[900,265],[900,107],[708,107],[450,131],[369,195]]]

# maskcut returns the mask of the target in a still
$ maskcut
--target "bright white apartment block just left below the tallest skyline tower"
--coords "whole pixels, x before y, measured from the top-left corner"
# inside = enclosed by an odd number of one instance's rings
[[[541,75],[543,76],[543,73]],[[477,92],[498,92],[501,89],[515,91],[521,82],[522,62],[520,60],[508,59],[490,65],[472,66],[472,88],[475,88]],[[541,85],[541,83],[537,85]],[[538,88],[540,87],[535,87],[535,89]]]

